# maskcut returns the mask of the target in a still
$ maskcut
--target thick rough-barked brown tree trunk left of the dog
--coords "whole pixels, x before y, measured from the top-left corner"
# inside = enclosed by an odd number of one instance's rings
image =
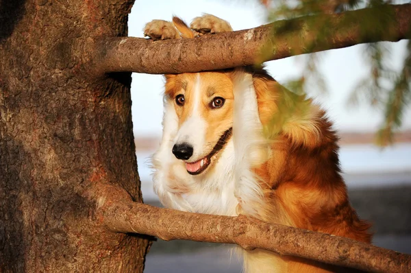
[[[127,36],[132,3],[0,1],[0,272],[142,272],[147,237],[109,231],[90,195],[142,201],[131,75],[88,64],[94,40]]]

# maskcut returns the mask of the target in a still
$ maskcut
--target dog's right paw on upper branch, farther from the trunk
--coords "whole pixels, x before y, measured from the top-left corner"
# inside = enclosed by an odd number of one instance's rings
[[[227,21],[211,14],[203,14],[203,16],[196,17],[192,20],[190,27],[198,32],[200,36],[208,33],[233,31]]]

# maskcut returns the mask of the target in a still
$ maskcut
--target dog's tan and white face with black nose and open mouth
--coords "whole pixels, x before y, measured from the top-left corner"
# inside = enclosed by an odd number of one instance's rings
[[[233,84],[229,73],[166,75],[165,98],[178,118],[173,152],[188,174],[210,169],[232,134]]]

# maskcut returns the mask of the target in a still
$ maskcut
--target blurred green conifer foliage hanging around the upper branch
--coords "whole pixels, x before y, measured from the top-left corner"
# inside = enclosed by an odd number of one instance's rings
[[[360,25],[358,32],[361,41],[366,42],[373,36],[389,36],[390,29],[387,26],[392,25],[395,21],[395,14],[388,4],[393,1],[384,0],[280,0],[273,1],[272,9],[269,12],[270,21],[282,19],[295,19],[306,15],[319,14],[336,14],[347,10],[358,8],[374,8],[373,12],[363,12],[362,18],[351,16],[338,17],[341,24],[350,25],[357,23]],[[308,20],[308,29],[316,29],[310,33],[306,39],[295,37],[295,30],[302,29],[299,21],[282,21],[276,29],[273,29],[273,40],[282,36],[286,38],[287,43],[303,43],[303,51],[292,52],[293,54],[302,54],[312,51],[315,47],[327,45],[329,39],[333,38],[333,30],[329,27],[327,16],[312,16]],[[306,20],[307,21],[307,20]],[[275,44],[275,43],[274,43]],[[388,69],[386,60],[390,57],[390,51],[384,43],[369,43],[364,47],[364,67],[370,67],[369,75],[360,79],[356,84],[349,97],[349,104],[356,105],[360,100],[366,99],[371,106],[385,109],[384,122],[376,134],[378,145],[387,145],[393,141],[393,133],[401,126],[404,109],[408,106],[411,99],[411,45],[408,41],[408,52],[406,60],[400,71]],[[275,51],[275,47],[263,48],[263,54],[269,54],[268,50]],[[323,74],[317,69],[320,62],[319,54],[308,54],[303,72],[298,78],[292,79],[285,84],[291,91],[305,97],[309,84],[314,84],[320,94],[327,93],[327,86]],[[301,102],[290,104],[286,102],[289,108],[284,108],[286,112],[295,111],[296,106]],[[288,110],[287,110],[288,109]],[[290,115],[285,114],[285,117]],[[273,121],[277,125],[285,121]]]

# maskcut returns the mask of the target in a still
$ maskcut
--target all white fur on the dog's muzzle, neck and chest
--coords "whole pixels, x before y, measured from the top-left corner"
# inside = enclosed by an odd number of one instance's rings
[[[198,76],[195,87],[197,104],[199,86]],[[173,139],[180,141],[181,137],[182,141],[191,141],[192,137],[182,137],[187,135],[201,139],[204,137],[197,133],[205,134],[205,130],[190,127],[195,126],[194,123],[187,123],[186,128],[183,125],[178,130],[173,102],[165,102],[164,107],[162,143],[153,156],[154,189],[162,204],[182,211],[217,215],[237,215],[236,208],[240,204],[242,213],[256,216],[258,210],[262,209],[264,195],[259,179],[251,168],[268,159],[269,145],[262,134],[252,76],[240,71],[234,79],[233,136],[221,151],[218,161],[204,174],[188,174],[184,162],[177,160],[171,150]],[[199,115],[196,111],[197,106],[194,106],[190,119]],[[183,129],[184,133],[180,133]],[[191,142],[192,145],[194,143],[195,141]],[[201,147],[194,147],[195,150],[197,148],[203,150]],[[175,182],[168,180],[171,173],[178,178],[180,185],[188,187],[187,192],[179,193],[169,187],[170,183]],[[284,261],[271,252],[253,250],[243,253],[246,272],[284,272]]]

